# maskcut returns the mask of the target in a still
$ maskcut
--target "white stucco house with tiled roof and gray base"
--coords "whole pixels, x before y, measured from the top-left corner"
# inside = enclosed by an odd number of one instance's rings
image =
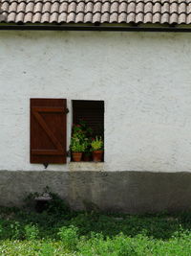
[[[191,208],[191,1],[0,0],[0,21],[1,205],[48,185],[74,209]],[[103,162],[67,153],[83,117]]]

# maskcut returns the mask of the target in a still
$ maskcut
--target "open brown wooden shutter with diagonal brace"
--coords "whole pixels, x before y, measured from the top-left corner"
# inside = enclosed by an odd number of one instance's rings
[[[31,99],[31,163],[66,163],[66,100]]]

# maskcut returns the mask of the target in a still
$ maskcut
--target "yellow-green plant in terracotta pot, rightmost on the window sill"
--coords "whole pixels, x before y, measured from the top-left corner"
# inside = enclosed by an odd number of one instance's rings
[[[93,139],[91,146],[93,151],[93,161],[101,162],[103,157],[103,140],[101,136],[96,136],[96,139]]]

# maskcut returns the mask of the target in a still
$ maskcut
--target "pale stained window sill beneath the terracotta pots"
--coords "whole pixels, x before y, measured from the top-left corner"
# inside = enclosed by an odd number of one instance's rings
[[[103,172],[104,162],[70,162],[69,170],[75,171],[87,171],[87,172]]]

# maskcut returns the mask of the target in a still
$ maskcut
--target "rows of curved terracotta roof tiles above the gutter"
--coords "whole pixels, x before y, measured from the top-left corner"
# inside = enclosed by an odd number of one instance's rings
[[[191,24],[191,0],[0,0],[0,22]]]

